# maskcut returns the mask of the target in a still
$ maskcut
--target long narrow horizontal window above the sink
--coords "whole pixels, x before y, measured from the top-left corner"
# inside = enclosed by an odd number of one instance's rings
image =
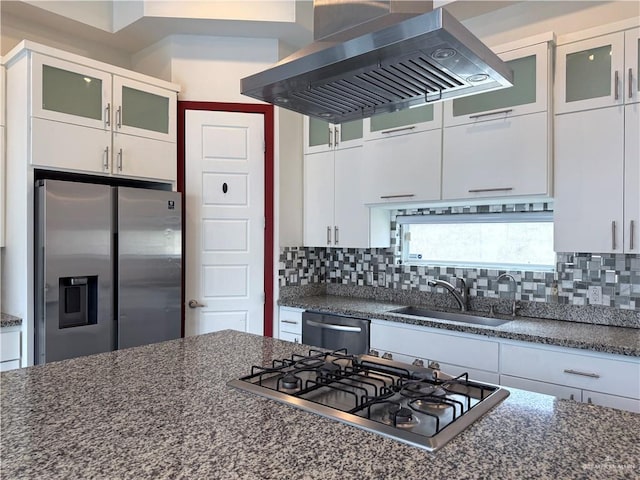
[[[553,212],[397,217],[411,265],[552,270]]]

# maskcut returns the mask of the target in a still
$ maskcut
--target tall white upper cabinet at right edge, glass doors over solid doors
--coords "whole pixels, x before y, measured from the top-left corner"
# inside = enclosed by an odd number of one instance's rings
[[[556,116],[554,248],[558,252],[640,252],[639,32],[634,28],[563,46],[580,53],[574,60],[582,62],[583,69],[584,64],[601,65],[583,79],[587,85],[580,87],[582,100],[562,105],[584,110],[565,110]],[[604,52],[611,52],[611,62],[598,58],[602,45]],[[622,75],[622,64],[616,62],[625,57]],[[618,80],[617,89],[615,82],[610,83],[608,96],[595,94],[607,90],[600,70],[610,70]],[[566,92],[569,95],[568,87]]]

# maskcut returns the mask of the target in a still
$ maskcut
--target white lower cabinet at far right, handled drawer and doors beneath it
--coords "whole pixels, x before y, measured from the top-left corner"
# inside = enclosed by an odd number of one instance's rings
[[[500,383],[640,413],[640,359],[503,343]]]

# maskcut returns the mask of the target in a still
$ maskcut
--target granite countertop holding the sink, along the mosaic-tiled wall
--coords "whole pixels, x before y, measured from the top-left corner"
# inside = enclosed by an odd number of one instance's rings
[[[389,320],[512,340],[581,348],[619,355],[640,356],[640,329],[637,328],[531,317],[516,317],[516,319],[503,325],[488,327],[446,320],[421,319],[409,315],[391,313],[391,310],[404,305],[339,295],[286,298],[281,299],[279,304],[281,306]],[[496,317],[511,319],[511,317],[504,315],[496,315]]]

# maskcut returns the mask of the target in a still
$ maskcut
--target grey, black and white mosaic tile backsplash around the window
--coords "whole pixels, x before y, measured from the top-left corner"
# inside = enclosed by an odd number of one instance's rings
[[[515,299],[555,305],[586,306],[588,287],[602,288],[602,305],[640,311],[640,255],[558,253],[554,272],[402,265],[397,215],[546,211],[550,204],[492,205],[392,212],[391,247],[386,249],[291,248],[281,249],[280,286],[316,283],[374,286],[417,292],[443,292],[428,281],[462,277],[473,297]],[[516,280],[497,281],[501,273]]]

